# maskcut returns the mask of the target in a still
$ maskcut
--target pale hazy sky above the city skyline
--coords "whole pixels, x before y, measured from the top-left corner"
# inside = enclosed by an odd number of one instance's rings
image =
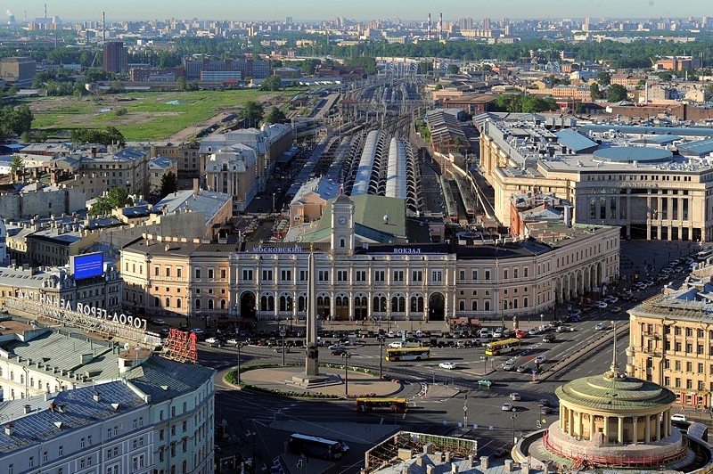
[[[0,14],[7,11],[22,21],[45,15],[62,20],[224,19],[224,20],[319,20],[343,16],[355,20],[433,19],[443,12],[444,20],[461,17],[489,18],[686,18],[713,16],[711,0],[4,0]]]

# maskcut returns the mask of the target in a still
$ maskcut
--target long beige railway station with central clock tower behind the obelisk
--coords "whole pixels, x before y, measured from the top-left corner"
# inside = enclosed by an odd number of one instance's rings
[[[316,242],[316,306],[330,320],[510,321],[619,277],[616,228],[562,225],[544,233],[546,241],[497,246],[373,243],[364,236],[379,231],[366,228],[372,219],[355,213],[351,200],[340,196],[330,206],[330,225],[309,236]],[[122,250],[125,304],[146,315],[302,319],[308,249],[301,242],[240,251],[147,237]]]

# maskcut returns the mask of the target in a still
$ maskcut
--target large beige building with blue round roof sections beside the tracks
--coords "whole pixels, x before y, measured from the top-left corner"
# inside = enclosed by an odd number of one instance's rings
[[[663,127],[651,135],[609,125],[557,130],[539,114],[476,121],[480,171],[504,225],[512,194],[537,188],[570,201],[578,224],[615,225],[636,239],[713,240],[713,165],[701,137],[666,136]],[[668,150],[674,143],[683,157]]]

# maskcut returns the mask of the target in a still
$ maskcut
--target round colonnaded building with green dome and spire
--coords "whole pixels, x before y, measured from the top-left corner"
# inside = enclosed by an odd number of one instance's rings
[[[575,470],[676,470],[708,466],[710,446],[704,425],[688,434],[672,426],[676,395],[668,388],[619,372],[616,359],[603,375],[572,380],[555,390],[557,424],[523,437],[516,461]]]

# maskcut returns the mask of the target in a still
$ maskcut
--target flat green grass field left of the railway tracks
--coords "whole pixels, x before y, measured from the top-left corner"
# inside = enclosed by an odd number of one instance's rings
[[[281,102],[283,94],[258,90],[150,92],[108,94],[98,99],[45,97],[26,103],[34,116],[32,127],[50,135],[73,128],[113,126],[127,141],[149,141],[200,127],[221,112],[237,112],[248,101],[263,102],[267,112],[271,108],[267,102]]]

